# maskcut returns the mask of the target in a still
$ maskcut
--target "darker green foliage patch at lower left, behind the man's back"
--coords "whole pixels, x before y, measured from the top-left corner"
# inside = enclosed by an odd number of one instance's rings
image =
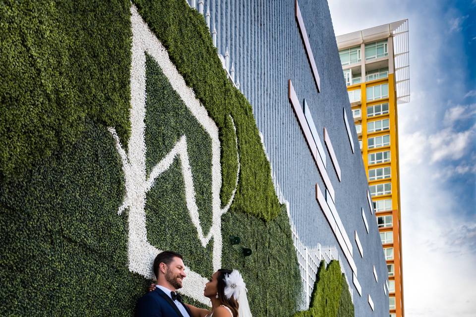
[[[124,177],[114,141],[78,141],[0,182],[0,316],[124,316],[148,281],[127,267]]]

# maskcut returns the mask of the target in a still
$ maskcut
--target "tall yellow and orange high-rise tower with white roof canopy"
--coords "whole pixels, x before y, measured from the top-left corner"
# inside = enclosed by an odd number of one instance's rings
[[[408,20],[337,37],[389,276],[390,317],[403,317],[398,104],[410,101]]]

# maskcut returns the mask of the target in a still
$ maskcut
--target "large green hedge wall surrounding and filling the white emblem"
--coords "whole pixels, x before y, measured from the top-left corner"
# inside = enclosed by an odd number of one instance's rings
[[[133,2],[219,127],[222,205],[235,188],[238,138],[238,190],[222,217],[222,265],[242,272],[254,316],[294,314],[296,252],[251,106],[228,81],[203,16],[185,1]],[[114,126],[125,146],[130,3],[3,1],[0,10],[0,315],[130,316],[150,281],[128,270],[127,212],[118,215],[125,180],[107,131]],[[186,135],[207,232],[210,139],[150,56],[146,86],[147,170]],[[148,239],[207,276],[211,244],[202,248],[189,224],[179,169],[176,160],[147,194]],[[232,235],[239,246],[230,244]],[[243,257],[241,247],[253,254]]]

